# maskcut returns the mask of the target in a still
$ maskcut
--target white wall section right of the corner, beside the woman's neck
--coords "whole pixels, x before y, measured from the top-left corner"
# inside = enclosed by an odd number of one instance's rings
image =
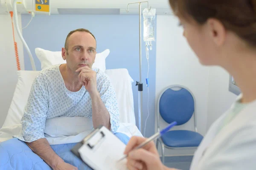
[[[229,73],[220,67],[209,68],[209,99],[207,130],[235,101],[236,95],[228,91]]]

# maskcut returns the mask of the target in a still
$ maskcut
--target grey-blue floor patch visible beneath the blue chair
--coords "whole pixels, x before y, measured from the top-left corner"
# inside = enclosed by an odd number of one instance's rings
[[[167,156],[165,165],[178,170],[189,170],[193,156]]]

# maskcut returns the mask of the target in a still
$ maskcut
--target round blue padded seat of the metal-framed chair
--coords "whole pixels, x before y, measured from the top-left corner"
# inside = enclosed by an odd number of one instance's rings
[[[198,147],[203,136],[189,130],[171,130],[161,138],[163,143],[169,147]]]

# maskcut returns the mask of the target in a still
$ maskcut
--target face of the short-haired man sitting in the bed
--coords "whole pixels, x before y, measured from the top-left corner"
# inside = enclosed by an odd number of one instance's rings
[[[92,68],[96,56],[96,40],[87,32],[77,31],[67,40],[68,50],[62,49],[62,57],[67,60],[67,67],[75,72],[85,65]]]

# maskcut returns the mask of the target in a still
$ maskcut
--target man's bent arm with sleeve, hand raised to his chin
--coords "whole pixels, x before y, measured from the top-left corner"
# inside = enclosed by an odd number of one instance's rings
[[[93,127],[104,125],[113,133],[119,127],[119,111],[116,93],[107,75],[96,72],[85,66],[76,70],[79,80],[92,99]],[[99,79],[99,81],[97,81]]]

